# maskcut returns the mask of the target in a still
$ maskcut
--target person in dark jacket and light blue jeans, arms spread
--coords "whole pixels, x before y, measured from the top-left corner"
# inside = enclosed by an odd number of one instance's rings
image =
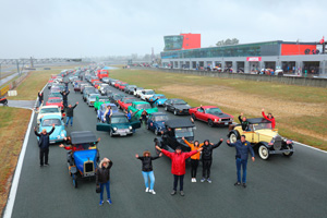
[[[148,150],[143,153],[143,157],[140,157],[138,154],[135,155],[135,157],[142,161],[142,174],[145,183],[145,192],[156,194],[154,190],[155,174],[153,170],[153,160],[158,159],[161,156],[162,153],[160,153],[160,155],[157,157],[152,157],[152,154]],[[148,178],[150,179],[150,187],[148,187]]]

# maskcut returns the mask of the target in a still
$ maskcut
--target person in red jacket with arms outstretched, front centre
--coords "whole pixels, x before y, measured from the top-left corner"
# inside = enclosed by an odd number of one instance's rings
[[[156,146],[156,148],[171,159],[171,173],[173,174],[173,191],[171,192],[171,195],[175,194],[178,181],[180,180],[180,194],[181,194],[181,196],[184,196],[185,194],[183,191],[183,183],[184,183],[184,174],[185,174],[185,160],[189,157],[201,152],[203,148],[201,147],[201,148],[192,150],[190,153],[182,153],[182,149],[180,146],[178,146],[175,148],[174,153],[170,153],[166,149],[162,149],[158,145]]]

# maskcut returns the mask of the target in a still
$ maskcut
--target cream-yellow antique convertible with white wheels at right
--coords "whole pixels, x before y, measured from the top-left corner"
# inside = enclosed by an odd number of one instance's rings
[[[271,129],[271,122],[264,118],[247,119],[249,130],[243,131],[242,126],[230,125],[230,132],[227,135],[231,143],[235,143],[245,135],[246,141],[254,148],[258,149],[258,155],[266,160],[270,155],[283,154],[287,157],[293,155],[293,142],[278,134],[277,129]]]

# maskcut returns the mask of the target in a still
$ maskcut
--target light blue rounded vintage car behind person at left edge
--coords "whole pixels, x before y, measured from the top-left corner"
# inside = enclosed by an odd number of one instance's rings
[[[47,132],[52,130],[52,124],[55,123],[55,132],[50,135],[50,143],[62,142],[66,136],[66,132],[64,130],[64,123],[61,120],[61,116],[58,114],[47,114],[40,118],[40,123],[38,126],[38,131],[41,132],[44,129]]]

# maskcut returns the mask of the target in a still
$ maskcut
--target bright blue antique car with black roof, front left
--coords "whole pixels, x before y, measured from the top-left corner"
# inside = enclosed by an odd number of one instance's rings
[[[73,185],[77,187],[77,180],[95,179],[100,155],[92,131],[72,132],[71,143],[72,150],[68,153],[66,161]]]

